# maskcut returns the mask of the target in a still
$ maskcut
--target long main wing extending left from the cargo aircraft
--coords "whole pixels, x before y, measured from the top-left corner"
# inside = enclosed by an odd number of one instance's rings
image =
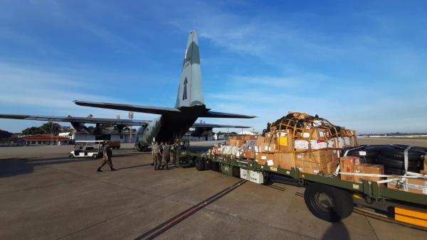
[[[132,125],[146,126],[151,121],[146,120],[130,120],[130,119],[102,119],[92,117],[76,117],[76,116],[36,116],[36,115],[16,115],[16,114],[0,114],[0,119],[22,119],[22,120],[37,120],[37,121],[68,121],[85,124],[115,124],[115,125]]]

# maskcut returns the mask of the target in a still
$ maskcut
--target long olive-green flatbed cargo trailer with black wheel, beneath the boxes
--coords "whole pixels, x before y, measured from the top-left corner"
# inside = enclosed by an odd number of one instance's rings
[[[259,165],[255,160],[188,153],[197,170],[215,170],[233,177],[267,185],[280,182],[305,188],[305,204],[312,214],[337,222],[352,212],[367,209],[377,218],[427,231],[427,195],[380,187],[376,182],[349,182],[336,176],[302,173],[297,168],[282,169]],[[354,205],[357,206],[354,209]]]

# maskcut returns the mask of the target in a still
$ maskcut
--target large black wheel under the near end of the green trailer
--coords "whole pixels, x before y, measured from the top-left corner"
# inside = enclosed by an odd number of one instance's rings
[[[320,183],[307,185],[304,200],[313,215],[327,222],[337,222],[349,217],[354,208],[349,192]]]

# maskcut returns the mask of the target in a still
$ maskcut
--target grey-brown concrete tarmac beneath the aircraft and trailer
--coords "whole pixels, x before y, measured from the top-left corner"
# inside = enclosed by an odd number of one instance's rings
[[[191,145],[203,151],[211,142]],[[117,171],[97,173],[99,159],[70,159],[71,149],[0,148],[0,239],[427,239],[356,213],[335,224],[317,219],[295,195],[302,187],[154,171],[151,154],[129,144],[113,151]]]

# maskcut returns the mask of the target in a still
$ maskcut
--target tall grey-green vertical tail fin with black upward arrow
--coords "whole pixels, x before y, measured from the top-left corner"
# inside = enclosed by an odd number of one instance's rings
[[[201,83],[199,40],[196,31],[191,31],[187,41],[178,96],[175,107],[193,107],[204,105],[203,86]]]

